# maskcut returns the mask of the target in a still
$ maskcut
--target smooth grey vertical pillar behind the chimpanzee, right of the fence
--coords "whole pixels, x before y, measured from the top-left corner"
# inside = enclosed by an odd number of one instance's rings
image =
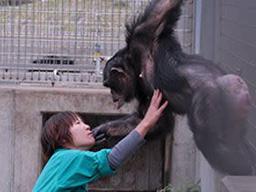
[[[202,1],[200,55],[219,63],[219,0]],[[221,183],[224,177],[215,171],[200,154],[200,178],[202,192],[227,192]]]

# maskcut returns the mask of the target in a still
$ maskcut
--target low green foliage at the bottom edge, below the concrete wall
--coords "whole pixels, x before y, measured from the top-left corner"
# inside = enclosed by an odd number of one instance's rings
[[[182,189],[180,188],[175,188],[171,184],[167,185],[163,189],[159,189],[156,192],[201,192],[201,187],[199,186],[200,181],[197,182],[197,184],[190,184],[186,183],[185,185],[182,185]]]

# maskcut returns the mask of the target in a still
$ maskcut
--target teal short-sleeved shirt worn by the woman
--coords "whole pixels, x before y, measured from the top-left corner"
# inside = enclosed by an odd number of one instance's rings
[[[32,192],[87,191],[87,184],[91,181],[114,174],[107,160],[110,151],[56,150],[38,177]]]

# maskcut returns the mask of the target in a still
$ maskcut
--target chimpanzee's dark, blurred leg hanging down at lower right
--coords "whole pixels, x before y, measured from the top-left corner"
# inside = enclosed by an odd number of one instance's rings
[[[244,144],[245,119],[234,119],[229,97],[216,83],[196,91],[188,121],[198,149],[209,164],[229,175],[252,175],[251,154]]]

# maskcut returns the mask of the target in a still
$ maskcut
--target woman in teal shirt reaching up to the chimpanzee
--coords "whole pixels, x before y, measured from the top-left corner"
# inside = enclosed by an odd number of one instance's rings
[[[37,191],[87,191],[87,184],[115,170],[144,144],[145,134],[155,125],[167,106],[160,106],[162,93],[154,91],[150,106],[134,130],[112,149],[89,151],[95,144],[91,127],[75,112],[59,112],[48,119],[41,133],[47,160],[37,179]]]

